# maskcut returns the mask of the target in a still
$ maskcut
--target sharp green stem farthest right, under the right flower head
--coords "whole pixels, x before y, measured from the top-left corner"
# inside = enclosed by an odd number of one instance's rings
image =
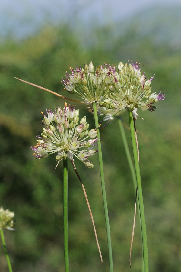
[[[143,262],[144,262],[144,272],[148,272],[148,245],[147,245],[147,235],[146,235],[146,223],[144,217],[144,205],[143,205],[143,194],[141,187],[141,176],[140,176],[140,168],[139,168],[139,159],[138,159],[138,151],[135,137],[135,126],[132,112],[128,109],[129,114],[129,126],[131,132],[131,140],[133,147],[133,157],[135,161],[135,171],[136,171],[136,180],[138,186],[138,200],[139,200],[139,209],[141,216],[141,232],[142,232],[142,244],[143,244]]]

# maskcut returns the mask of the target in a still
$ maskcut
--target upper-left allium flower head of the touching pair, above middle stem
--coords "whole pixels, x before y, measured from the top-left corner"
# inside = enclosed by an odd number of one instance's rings
[[[71,73],[65,73],[66,79],[63,79],[65,89],[69,93],[75,93],[84,100],[84,103],[91,105],[98,103],[109,91],[110,85],[114,82],[114,77],[118,77],[116,68],[113,65],[99,65],[94,69],[92,62],[84,68],[71,69]]]

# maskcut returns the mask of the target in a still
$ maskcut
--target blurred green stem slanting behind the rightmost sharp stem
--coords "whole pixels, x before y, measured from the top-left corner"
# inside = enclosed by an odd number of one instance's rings
[[[117,119],[118,119],[118,124],[119,124],[119,128],[120,128],[120,131],[121,131],[122,141],[123,141],[123,144],[124,144],[125,153],[126,153],[126,157],[127,157],[127,160],[128,160],[129,168],[130,168],[131,175],[132,175],[133,185],[134,185],[134,189],[135,189],[135,193],[136,193],[137,181],[136,181],[135,167],[134,167],[133,162],[132,162],[132,158],[131,158],[131,154],[130,154],[130,151],[129,151],[128,142],[127,142],[127,139],[126,139],[125,129],[123,127],[122,120],[119,117]],[[137,211],[138,211],[140,231],[141,231],[141,217],[140,217],[138,197],[136,199],[136,206],[138,207]],[[141,239],[142,239],[142,231],[141,231]],[[143,261],[142,261],[141,271],[144,271]]]

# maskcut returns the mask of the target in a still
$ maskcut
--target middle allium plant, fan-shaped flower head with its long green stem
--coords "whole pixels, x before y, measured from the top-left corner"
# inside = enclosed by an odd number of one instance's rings
[[[95,126],[99,126],[98,116],[97,116],[97,106],[99,102],[104,99],[110,89],[110,85],[114,83],[114,75],[117,73],[116,68],[110,64],[99,65],[94,68],[92,62],[87,65],[84,64],[84,68],[77,68],[75,70],[71,69],[71,73],[65,73],[65,78],[63,79],[64,87],[69,93],[75,93],[78,97],[84,100],[86,105],[93,107]],[[109,253],[109,264],[110,272],[113,272],[113,256],[112,256],[112,246],[111,246],[111,234],[110,234],[110,223],[106,200],[106,188],[104,181],[104,171],[103,171],[103,159],[102,159],[102,149],[100,142],[100,133],[97,134],[97,146],[99,153],[99,166],[100,166],[100,178],[103,194],[103,205],[104,214],[106,221],[106,232],[107,232],[107,242],[108,242],[108,253]]]

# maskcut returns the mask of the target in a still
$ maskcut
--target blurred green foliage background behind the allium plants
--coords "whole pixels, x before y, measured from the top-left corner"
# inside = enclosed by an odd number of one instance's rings
[[[139,110],[138,114],[146,121],[140,118],[137,121],[150,271],[181,271],[181,53],[167,44],[155,45],[151,36],[138,37],[134,27],[121,38],[112,37],[111,33],[111,28],[96,29],[97,42],[85,47],[78,34],[62,25],[46,27],[23,41],[7,38],[0,45],[0,204],[14,211],[17,220],[17,232],[5,230],[14,272],[64,271],[62,164],[53,174],[55,157],[35,160],[29,146],[35,144],[34,135],[42,130],[40,111],[68,102],[14,77],[70,96],[59,84],[69,66],[90,61],[94,65],[105,62],[117,65],[119,61],[135,59],[144,65],[142,70],[148,78],[155,74],[152,90],[166,93],[166,100],[156,105],[155,112]],[[93,115],[84,105],[77,107],[80,116],[86,115],[94,128]],[[127,112],[123,119],[128,124]],[[126,135],[130,146],[128,130]],[[130,271],[135,193],[116,118],[101,131],[101,140],[114,271],[126,272]],[[81,184],[69,163],[70,271],[106,272],[109,265],[98,156],[93,158],[93,169],[85,168],[79,161],[75,163],[92,208],[103,264]],[[141,270],[138,219],[132,270]],[[0,271],[7,271],[2,246]]]

